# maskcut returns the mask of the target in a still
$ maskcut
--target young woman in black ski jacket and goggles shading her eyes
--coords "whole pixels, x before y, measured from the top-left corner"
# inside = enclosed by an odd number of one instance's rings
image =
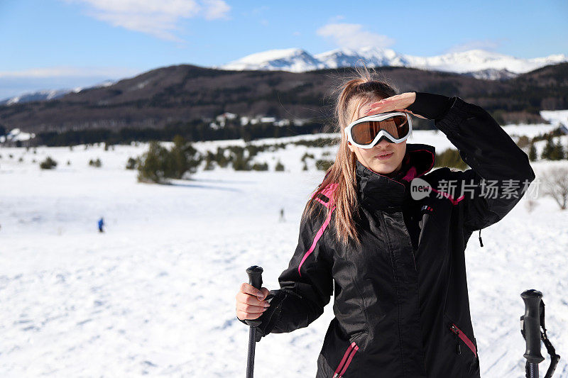
[[[432,170],[434,148],[406,143],[409,114],[435,120],[471,169]],[[479,377],[464,250],[535,179],[527,155],[479,106],[396,94],[368,72],[344,84],[336,116],[339,151],[280,289],[241,284],[237,318],[258,318],[262,336],[291,332],[334,294],[317,378]]]

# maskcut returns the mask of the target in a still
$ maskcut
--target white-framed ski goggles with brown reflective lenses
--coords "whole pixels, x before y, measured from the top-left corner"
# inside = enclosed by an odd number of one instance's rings
[[[379,113],[359,118],[344,130],[347,141],[359,148],[373,148],[386,138],[391,143],[401,143],[413,130],[412,121],[405,112]]]

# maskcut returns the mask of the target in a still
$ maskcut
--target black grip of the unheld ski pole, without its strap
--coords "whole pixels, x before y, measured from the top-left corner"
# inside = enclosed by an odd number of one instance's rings
[[[523,316],[523,328],[527,350],[523,357],[531,364],[539,364],[545,360],[540,354],[540,301],[542,293],[535,289],[523,291],[520,297],[525,301],[525,315]]]

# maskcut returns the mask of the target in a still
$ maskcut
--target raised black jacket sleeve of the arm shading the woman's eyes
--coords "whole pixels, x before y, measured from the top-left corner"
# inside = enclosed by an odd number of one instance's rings
[[[427,101],[437,96],[437,101]],[[445,99],[442,99],[444,98]],[[428,113],[471,169],[460,172],[464,230],[481,230],[513,209],[535,179],[528,156],[480,106],[454,96],[417,92],[410,109]],[[432,104],[430,112],[427,103]],[[420,113],[420,115],[422,115]],[[469,188],[469,189],[467,189]]]

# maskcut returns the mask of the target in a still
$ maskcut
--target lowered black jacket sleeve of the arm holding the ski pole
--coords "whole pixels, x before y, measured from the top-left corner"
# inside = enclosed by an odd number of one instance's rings
[[[294,255],[278,277],[280,289],[271,290],[266,298],[271,306],[256,319],[261,321],[257,334],[292,332],[308,326],[324,312],[333,293],[332,257],[324,244],[331,215],[331,211],[322,211],[320,215],[302,216]],[[261,336],[257,335],[257,341]]]

